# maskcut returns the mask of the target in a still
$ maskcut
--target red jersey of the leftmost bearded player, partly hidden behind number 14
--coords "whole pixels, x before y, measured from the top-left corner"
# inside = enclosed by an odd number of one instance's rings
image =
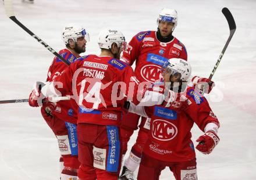
[[[59,54],[65,58],[65,60],[69,61],[69,63],[74,63],[76,61],[76,57],[70,52],[68,49],[63,49],[59,52]],[[56,78],[56,76],[60,75],[68,66],[63,63],[58,57],[55,57],[52,61],[51,66],[48,70],[47,81],[52,82]],[[63,95],[72,95],[72,94],[63,94]],[[65,120],[65,122],[77,123],[77,113],[74,111],[77,108],[76,102],[71,100],[59,101],[56,102],[55,111],[52,112],[52,115],[57,116],[61,120]]]

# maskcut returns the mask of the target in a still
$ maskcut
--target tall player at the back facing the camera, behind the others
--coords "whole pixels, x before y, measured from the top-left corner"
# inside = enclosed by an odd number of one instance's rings
[[[157,31],[144,31],[135,35],[128,46],[127,51],[123,52],[121,60],[132,65],[136,61],[135,74],[141,82],[154,82],[159,79],[161,73],[159,70],[162,65],[170,58],[183,58],[187,60],[186,47],[172,32],[177,26],[177,12],[175,9],[162,9],[159,13]],[[196,83],[209,81],[209,79],[196,77],[193,79]],[[127,150],[127,142],[133,131],[137,129],[140,116],[129,113],[124,116],[121,128],[121,137],[123,138],[123,155]],[[145,141],[148,138],[150,129],[150,117],[141,117],[140,130],[136,143],[131,148],[129,158],[125,160],[121,179],[134,179],[133,172],[140,164],[140,157]]]

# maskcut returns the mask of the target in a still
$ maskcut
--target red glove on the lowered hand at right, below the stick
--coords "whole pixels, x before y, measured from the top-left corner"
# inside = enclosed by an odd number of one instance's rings
[[[197,139],[197,142],[199,142],[199,144],[195,148],[208,155],[219,143],[219,137],[214,133],[214,131],[207,131]]]

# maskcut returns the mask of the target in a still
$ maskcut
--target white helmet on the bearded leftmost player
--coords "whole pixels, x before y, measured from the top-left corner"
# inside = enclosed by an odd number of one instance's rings
[[[81,25],[69,24],[63,28],[62,39],[65,45],[69,43],[69,39],[72,39],[74,42],[77,42],[77,38],[83,37],[86,41],[90,41],[88,32],[81,27]]]

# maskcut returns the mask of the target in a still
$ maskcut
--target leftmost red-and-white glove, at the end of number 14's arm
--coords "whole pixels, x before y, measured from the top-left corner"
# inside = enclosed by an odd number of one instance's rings
[[[42,82],[36,82],[34,89],[29,95],[29,105],[32,107],[38,107],[42,105],[42,100],[44,99],[44,95],[41,94],[42,86],[45,84]]]

